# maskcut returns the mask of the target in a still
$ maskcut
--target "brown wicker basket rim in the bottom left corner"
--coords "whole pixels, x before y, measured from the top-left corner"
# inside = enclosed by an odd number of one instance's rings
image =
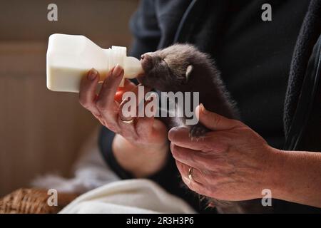
[[[56,214],[78,195],[58,193],[58,206],[49,206],[47,190],[19,189],[0,198],[1,214]]]

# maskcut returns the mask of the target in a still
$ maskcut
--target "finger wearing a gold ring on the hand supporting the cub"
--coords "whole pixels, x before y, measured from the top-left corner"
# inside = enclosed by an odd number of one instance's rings
[[[190,180],[190,177],[188,177],[188,170],[190,169],[190,166],[185,165],[184,163],[178,160],[175,160],[175,162],[185,185],[187,185],[190,188],[190,190],[199,192],[200,189],[203,188],[203,183],[206,183],[204,181],[202,173],[199,170],[193,168],[193,180]]]

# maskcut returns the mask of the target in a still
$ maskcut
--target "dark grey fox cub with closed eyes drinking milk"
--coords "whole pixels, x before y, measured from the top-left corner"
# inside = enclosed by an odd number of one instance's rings
[[[162,92],[199,92],[199,101],[207,110],[227,118],[238,119],[235,102],[220,78],[210,57],[189,44],[175,44],[141,56],[144,74],[138,77],[143,86]],[[168,127],[177,121],[170,118]],[[165,121],[167,122],[167,121]],[[200,123],[187,125],[190,136],[200,138],[209,130]]]

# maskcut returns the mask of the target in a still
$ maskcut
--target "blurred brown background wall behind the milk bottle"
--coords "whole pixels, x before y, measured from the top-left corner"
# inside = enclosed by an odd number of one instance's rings
[[[58,6],[48,21],[47,6]],[[37,175],[68,175],[98,121],[78,93],[46,88],[51,33],[81,34],[103,48],[131,46],[128,21],[138,0],[0,1],[0,197]]]

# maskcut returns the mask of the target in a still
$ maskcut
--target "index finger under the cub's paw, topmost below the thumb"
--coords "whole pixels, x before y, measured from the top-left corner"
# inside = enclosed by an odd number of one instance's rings
[[[199,140],[192,140],[189,136],[188,128],[175,127],[168,132],[168,139],[175,145],[186,147],[192,150],[201,150],[203,152],[222,150],[225,139],[220,135],[213,135],[211,133],[203,136]]]

